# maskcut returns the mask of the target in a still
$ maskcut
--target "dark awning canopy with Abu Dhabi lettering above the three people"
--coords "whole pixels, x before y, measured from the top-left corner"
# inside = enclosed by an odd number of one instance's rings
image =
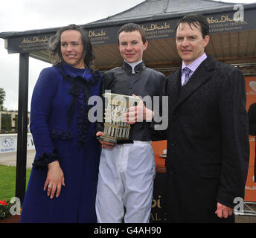
[[[180,65],[176,22],[186,14],[201,13],[211,28],[206,53],[223,62],[246,65],[245,73],[249,68],[256,72],[256,4],[243,4],[244,21],[236,22],[234,15],[241,6],[211,0],[146,0],[122,13],[81,26],[88,30],[94,45],[95,66],[105,71],[122,63],[116,41],[118,29],[127,22],[138,23],[150,42],[144,52],[146,65],[168,74]],[[29,52],[33,58],[50,62],[47,43],[58,29],[6,32],[0,37],[5,39],[9,53]]]

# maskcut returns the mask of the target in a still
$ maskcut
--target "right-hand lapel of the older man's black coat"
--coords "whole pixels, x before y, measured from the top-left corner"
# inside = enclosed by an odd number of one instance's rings
[[[207,59],[204,60],[198,68],[196,68],[196,71],[193,72],[193,75],[188,80],[188,83],[186,83],[185,86],[182,86],[179,98],[176,100],[174,107],[176,108],[176,106],[179,106],[179,104],[191,96],[191,94],[193,94],[196,89],[198,89],[200,86],[202,86],[203,83],[209,80],[214,73],[214,68],[214,59],[212,57],[207,57]],[[179,78],[179,80],[181,79]]]

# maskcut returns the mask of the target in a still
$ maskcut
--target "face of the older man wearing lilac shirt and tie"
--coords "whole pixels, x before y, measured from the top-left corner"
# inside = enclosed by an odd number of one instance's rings
[[[202,38],[200,25],[197,28],[188,23],[180,24],[176,31],[176,47],[179,56],[185,62],[185,65],[191,64],[205,52],[205,47],[210,37]]]

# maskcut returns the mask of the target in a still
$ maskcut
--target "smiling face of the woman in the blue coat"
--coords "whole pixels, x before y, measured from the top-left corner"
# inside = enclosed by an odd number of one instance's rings
[[[63,60],[74,68],[85,68],[81,33],[77,30],[65,30],[60,36],[60,48]]]

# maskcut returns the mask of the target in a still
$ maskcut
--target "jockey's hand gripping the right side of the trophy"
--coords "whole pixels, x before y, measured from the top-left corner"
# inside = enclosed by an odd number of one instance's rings
[[[135,94],[132,94],[136,97]],[[136,122],[142,122],[143,120],[152,121],[154,117],[154,112],[144,105],[143,101],[140,99],[137,106],[131,106],[128,112],[124,115],[126,122],[128,124],[134,124]]]

